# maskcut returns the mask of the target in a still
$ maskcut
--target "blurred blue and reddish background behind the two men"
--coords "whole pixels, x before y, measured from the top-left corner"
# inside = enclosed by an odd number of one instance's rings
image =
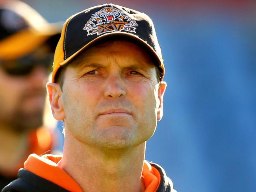
[[[109,2],[147,13],[168,86],[146,159],[165,168],[178,192],[255,191],[255,0],[23,2],[49,22]]]

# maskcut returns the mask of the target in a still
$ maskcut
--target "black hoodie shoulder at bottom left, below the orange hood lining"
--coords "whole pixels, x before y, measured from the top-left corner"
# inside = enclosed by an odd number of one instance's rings
[[[68,192],[68,190],[56,185],[38,175],[25,169],[20,169],[18,179],[7,185],[2,192],[32,192],[32,191],[57,191]]]

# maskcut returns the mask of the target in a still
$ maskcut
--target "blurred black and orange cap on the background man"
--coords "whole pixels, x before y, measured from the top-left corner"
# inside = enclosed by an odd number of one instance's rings
[[[56,46],[61,28],[60,23],[48,23],[27,4],[8,1],[0,7],[0,59],[22,57],[46,41]]]

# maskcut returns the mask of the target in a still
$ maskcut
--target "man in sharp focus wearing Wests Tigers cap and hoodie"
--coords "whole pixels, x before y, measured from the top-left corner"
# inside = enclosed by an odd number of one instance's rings
[[[144,13],[104,4],[70,17],[47,84],[65,124],[63,156],[30,155],[3,191],[175,192],[163,168],[144,160],[163,115],[163,75]]]

